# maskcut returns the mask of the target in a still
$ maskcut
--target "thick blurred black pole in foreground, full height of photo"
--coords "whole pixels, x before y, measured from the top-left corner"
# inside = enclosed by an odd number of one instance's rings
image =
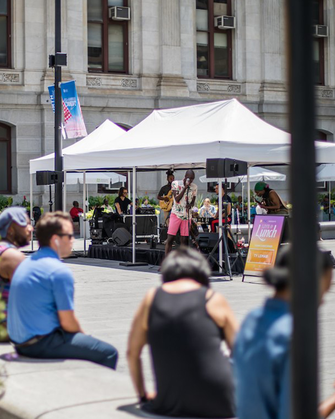
[[[291,280],[294,332],[291,405],[294,419],[316,419],[318,401],[312,3],[312,0],[287,0],[286,3],[289,12],[289,110],[292,134]]]

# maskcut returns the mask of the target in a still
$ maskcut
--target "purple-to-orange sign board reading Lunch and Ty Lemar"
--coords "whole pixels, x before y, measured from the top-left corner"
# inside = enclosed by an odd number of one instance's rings
[[[284,215],[256,215],[248,248],[244,275],[260,277],[273,267],[281,243]]]

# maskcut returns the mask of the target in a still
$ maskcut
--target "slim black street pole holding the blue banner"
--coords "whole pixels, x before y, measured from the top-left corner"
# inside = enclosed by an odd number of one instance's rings
[[[61,0],[55,0],[55,55],[61,52],[62,38],[61,38]],[[62,160],[62,94],[60,90],[60,83],[62,81],[62,67],[55,66],[55,170],[63,170]],[[62,210],[62,182],[55,184],[55,210]]]

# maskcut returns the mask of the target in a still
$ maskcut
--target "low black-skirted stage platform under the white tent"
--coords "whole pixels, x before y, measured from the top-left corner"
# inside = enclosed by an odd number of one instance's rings
[[[149,244],[140,243],[136,245],[136,261],[137,262],[146,262],[150,265],[159,266],[164,259],[164,248],[162,244],[157,244],[156,249],[150,249]],[[203,253],[205,257],[208,255]],[[217,255],[217,253],[216,253]],[[105,259],[112,261],[120,262],[129,262],[132,260],[133,251],[131,246],[115,246],[113,244],[91,244],[88,249],[89,258],[93,259]],[[243,258],[245,259],[245,257]],[[234,262],[235,257],[232,257],[232,262]],[[218,271],[217,265],[214,261],[209,261],[211,269],[213,272]],[[243,273],[243,265],[240,260],[235,264],[235,273]]]

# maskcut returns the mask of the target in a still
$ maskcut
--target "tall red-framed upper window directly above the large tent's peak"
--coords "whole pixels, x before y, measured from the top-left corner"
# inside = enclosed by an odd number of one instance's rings
[[[231,13],[231,0],[196,0],[198,77],[232,78],[232,30],[214,27],[215,16]]]

